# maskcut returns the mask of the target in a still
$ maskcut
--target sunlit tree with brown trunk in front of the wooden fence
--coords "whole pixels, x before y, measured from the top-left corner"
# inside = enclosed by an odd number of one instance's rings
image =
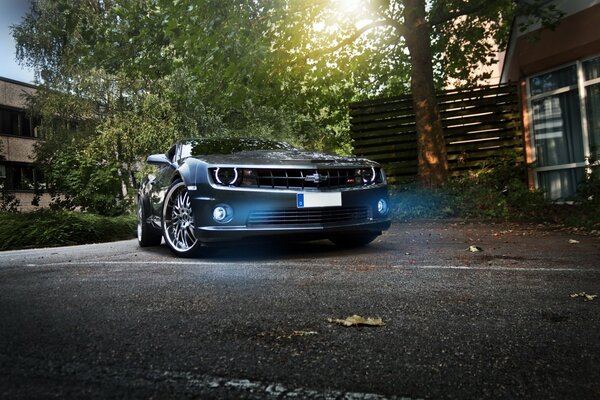
[[[530,15],[545,24],[556,22],[560,13],[543,3],[290,1],[285,10],[290,17],[278,28],[283,32],[279,49],[300,66],[297,69],[303,64],[318,65],[306,71],[309,76],[354,65],[356,69],[348,69],[351,75],[346,79],[355,81],[363,96],[406,91],[402,82],[410,80],[419,177],[426,186],[438,186],[445,182],[448,166],[436,87],[451,79],[470,83],[483,77],[474,74],[473,67],[489,64],[494,52],[503,48],[516,14]],[[362,79],[357,82],[360,70]],[[406,79],[407,72],[410,79]],[[303,84],[310,85],[311,79],[305,78]]]

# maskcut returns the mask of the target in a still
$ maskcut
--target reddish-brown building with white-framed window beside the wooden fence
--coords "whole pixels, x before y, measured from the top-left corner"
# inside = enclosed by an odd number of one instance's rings
[[[521,86],[530,182],[566,200],[600,159],[600,0],[554,0],[555,30],[515,20],[501,82]]]

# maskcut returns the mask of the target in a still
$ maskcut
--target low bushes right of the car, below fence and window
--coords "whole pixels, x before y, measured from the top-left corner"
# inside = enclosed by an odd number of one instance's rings
[[[465,218],[551,223],[600,231],[600,167],[581,185],[572,204],[555,204],[525,183],[525,168],[500,159],[442,188],[404,182],[390,186],[392,218]]]

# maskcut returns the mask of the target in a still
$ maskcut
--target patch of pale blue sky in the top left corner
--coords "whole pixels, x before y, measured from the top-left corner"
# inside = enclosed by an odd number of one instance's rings
[[[9,28],[21,22],[28,9],[29,0],[0,0],[0,77],[33,83],[33,71],[17,64]]]

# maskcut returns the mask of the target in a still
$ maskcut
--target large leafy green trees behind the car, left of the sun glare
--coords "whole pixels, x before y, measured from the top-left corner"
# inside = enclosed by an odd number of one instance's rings
[[[263,13],[237,1],[33,2],[13,33],[41,79],[37,158],[56,203],[122,209],[141,161],[185,136],[315,135],[309,117],[275,100]]]

